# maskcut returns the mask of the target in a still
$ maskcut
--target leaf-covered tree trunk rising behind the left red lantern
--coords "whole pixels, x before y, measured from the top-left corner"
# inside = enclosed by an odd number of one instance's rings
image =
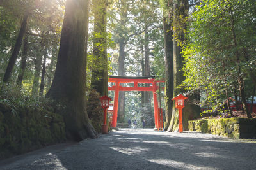
[[[108,95],[108,56],[107,56],[107,1],[93,0],[94,37],[92,89],[101,96]]]

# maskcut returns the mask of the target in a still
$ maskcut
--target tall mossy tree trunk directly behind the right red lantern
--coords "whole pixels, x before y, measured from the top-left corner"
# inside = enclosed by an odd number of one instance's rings
[[[178,42],[184,41],[184,31],[180,27],[185,28],[186,25],[182,25],[180,20],[188,16],[188,8],[188,0],[173,1],[173,96],[184,92],[182,88],[178,88],[185,80],[184,73],[181,70],[184,58],[180,55],[181,47],[178,45]],[[179,127],[178,115],[178,110],[173,103],[172,118],[167,131],[177,131]]]

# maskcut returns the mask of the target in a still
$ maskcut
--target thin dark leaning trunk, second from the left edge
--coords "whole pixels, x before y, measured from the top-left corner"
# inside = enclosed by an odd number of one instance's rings
[[[19,87],[22,85],[22,80],[25,73],[25,69],[26,69],[27,57],[28,57],[28,34],[26,34],[23,40],[23,50],[22,50],[22,56],[21,56],[20,71],[16,81]]]

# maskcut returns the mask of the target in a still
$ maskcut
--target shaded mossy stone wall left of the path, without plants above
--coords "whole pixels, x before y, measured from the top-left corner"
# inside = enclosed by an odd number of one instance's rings
[[[0,103],[0,159],[65,141],[63,117],[40,107]]]

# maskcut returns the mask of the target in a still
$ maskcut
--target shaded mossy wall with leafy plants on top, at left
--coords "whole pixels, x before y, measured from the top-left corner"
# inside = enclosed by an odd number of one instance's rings
[[[29,96],[16,85],[0,91],[0,159],[65,141],[63,117],[49,99]]]

